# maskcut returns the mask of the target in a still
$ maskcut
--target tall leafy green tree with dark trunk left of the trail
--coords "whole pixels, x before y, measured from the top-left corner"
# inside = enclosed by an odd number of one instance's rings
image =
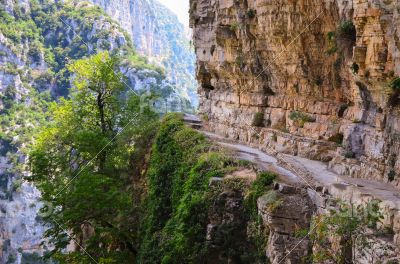
[[[107,52],[69,65],[71,99],[53,103],[30,152],[31,178],[52,208],[45,235],[62,263],[90,263],[86,252],[103,263],[136,254],[132,156],[149,144],[157,116],[125,91],[118,68]],[[62,254],[71,242],[82,247]]]

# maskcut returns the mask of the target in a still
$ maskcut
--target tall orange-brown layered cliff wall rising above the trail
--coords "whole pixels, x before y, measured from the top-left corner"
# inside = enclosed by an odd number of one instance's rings
[[[191,0],[190,12],[209,130],[400,187],[398,1]]]

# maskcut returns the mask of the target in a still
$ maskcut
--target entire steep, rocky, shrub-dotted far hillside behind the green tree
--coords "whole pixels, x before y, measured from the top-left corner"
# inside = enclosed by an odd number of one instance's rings
[[[5,1],[0,14],[0,262],[5,263],[44,250],[40,194],[22,179],[25,150],[45,123],[49,102],[68,95],[69,62],[108,50],[124,58],[128,91],[152,90],[164,98],[176,93],[163,69],[135,53],[127,33],[98,7]]]

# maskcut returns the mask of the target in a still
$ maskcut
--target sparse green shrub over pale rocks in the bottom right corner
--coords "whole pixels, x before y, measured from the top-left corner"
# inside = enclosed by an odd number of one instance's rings
[[[390,246],[374,237],[387,239],[393,233],[383,225],[383,218],[379,200],[359,205],[338,201],[335,209],[315,216],[310,230],[304,232],[311,238],[314,249],[308,261],[357,263],[369,256],[372,259],[364,259],[368,263],[381,263],[379,258],[387,256]]]

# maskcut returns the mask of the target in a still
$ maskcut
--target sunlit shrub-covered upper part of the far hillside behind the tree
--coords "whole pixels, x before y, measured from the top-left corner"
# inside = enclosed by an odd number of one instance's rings
[[[4,79],[13,82],[0,95],[0,145],[3,155],[8,155],[18,166],[16,150],[29,143],[32,132],[46,120],[48,103],[59,96],[68,96],[71,86],[70,71],[66,65],[102,50],[118,55],[119,68],[142,70],[143,76],[154,77],[161,83],[164,72],[138,55],[130,38],[98,7],[77,1],[29,1],[30,10],[14,3],[13,13],[0,5],[0,31],[4,36],[0,65]],[[65,22],[65,23],[64,23]],[[109,27],[96,27],[109,23]],[[74,28],[69,27],[74,25]],[[18,59],[17,59],[18,57]],[[128,79],[125,82],[132,86]],[[173,92],[173,87],[161,88],[152,84],[151,90],[163,97]],[[125,89],[129,89],[125,87]],[[13,173],[10,171],[10,173]]]

